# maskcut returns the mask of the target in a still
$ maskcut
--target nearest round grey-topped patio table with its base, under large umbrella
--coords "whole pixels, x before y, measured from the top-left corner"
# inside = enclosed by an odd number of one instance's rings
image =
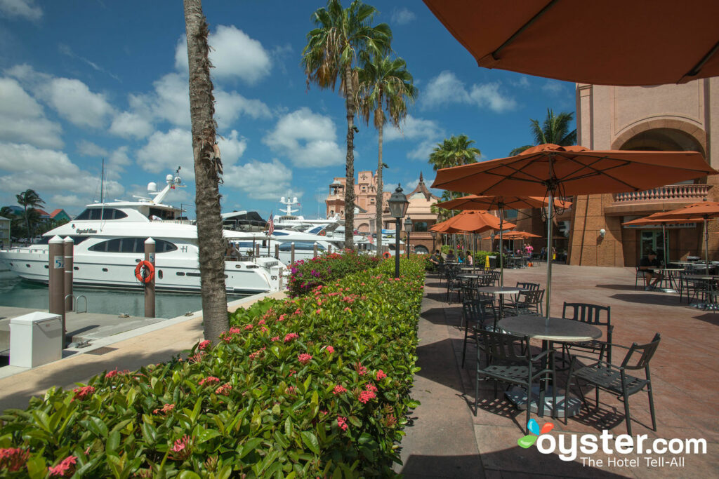
[[[573,343],[598,339],[602,337],[602,330],[598,327],[587,324],[586,322],[565,320],[561,317],[522,315],[507,317],[499,322],[500,329],[513,335],[528,336],[529,338],[541,340],[542,351],[549,350],[552,344],[557,341],[560,343]],[[551,386],[554,387],[554,386]],[[536,388],[536,389],[535,389]],[[546,388],[544,383],[542,386],[533,386],[532,403],[529,405],[533,412],[544,416],[544,409],[550,413],[554,409],[552,404],[552,392]],[[536,393],[536,394],[535,394]],[[539,404],[539,397],[544,394],[544,402]],[[505,393],[505,396],[515,404],[518,409],[527,407],[527,393],[521,387],[514,387]],[[564,395],[557,394],[557,414],[556,417],[562,415],[574,416],[579,414],[582,407],[582,401],[574,398],[569,404],[565,403]]]

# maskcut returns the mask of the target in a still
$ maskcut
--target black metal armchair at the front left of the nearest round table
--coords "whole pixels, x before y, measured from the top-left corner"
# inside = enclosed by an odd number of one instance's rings
[[[537,355],[531,355],[529,338],[503,334],[502,332],[478,330],[487,355],[487,366],[481,367],[480,349],[477,349],[477,371],[475,386],[475,416],[480,396],[480,379],[486,376],[495,380],[495,398],[497,381],[523,386],[527,391],[527,419],[529,422],[532,401],[532,383],[536,381],[554,381],[554,350],[548,349]],[[541,388],[539,401],[544,402],[544,388]],[[552,404],[557,404],[557,388],[552,388]],[[554,417],[554,409],[552,417]],[[524,428],[528,434],[526,427]]]

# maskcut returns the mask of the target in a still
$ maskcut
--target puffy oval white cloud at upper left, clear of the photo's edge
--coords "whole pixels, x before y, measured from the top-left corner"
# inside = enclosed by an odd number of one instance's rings
[[[77,126],[102,128],[113,112],[101,93],[92,93],[85,83],[70,78],[54,78],[40,89],[42,97],[60,116]]]

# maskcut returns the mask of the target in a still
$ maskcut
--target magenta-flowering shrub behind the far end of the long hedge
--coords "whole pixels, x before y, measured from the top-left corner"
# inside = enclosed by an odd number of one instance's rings
[[[330,253],[291,266],[288,289],[291,296],[307,294],[321,284],[329,284],[357,271],[375,268],[382,260],[374,255],[358,254],[350,249]]]

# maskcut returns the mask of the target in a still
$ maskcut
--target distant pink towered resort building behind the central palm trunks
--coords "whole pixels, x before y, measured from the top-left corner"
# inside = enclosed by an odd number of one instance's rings
[[[368,236],[376,234],[375,220],[377,209],[377,177],[375,172],[361,171],[357,173],[357,182],[354,184],[354,230],[359,234]],[[338,214],[344,220],[344,186],[345,177],[334,177],[329,185],[327,195],[326,215],[329,217]],[[395,229],[395,219],[390,216],[390,208],[387,200],[390,199],[392,191],[383,191],[383,229]],[[431,212],[431,205],[439,201],[439,197],[432,195],[424,183],[422,174],[419,174],[419,183],[411,191],[404,191],[409,201],[407,215],[413,220],[413,233],[410,234],[410,243],[416,251],[428,252],[432,246],[432,237],[429,234],[429,227],[437,220],[436,213]],[[404,219],[403,219],[404,221]],[[404,230],[404,225],[402,226]],[[404,239],[404,235],[403,235]]]

